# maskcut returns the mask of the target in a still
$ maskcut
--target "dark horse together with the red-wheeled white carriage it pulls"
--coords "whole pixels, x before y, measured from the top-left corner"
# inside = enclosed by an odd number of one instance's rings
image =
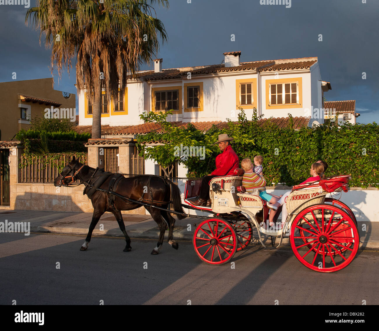
[[[199,194],[201,180],[186,182],[187,205],[183,205],[179,188],[166,178],[153,175],[125,178],[123,174],[103,172],[83,165],[74,157],[55,178],[54,184],[70,186],[79,180],[80,184],[85,184],[83,194],[87,194],[92,201],[94,214],[81,251],[88,249],[92,231],[105,211],[114,214],[125,236],[124,252],[131,251],[121,210],[132,210],[142,205],[160,228],[157,247],[152,254],[158,254],[167,225],[168,242],[178,249],[178,243],[172,237],[175,219],[170,213],[177,214],[178,219],[199,217],[185,214],[183,207],[187,207],[215,214],[214,217],[200,216],[204,221],[197,225],[193,236],[196,254],[210,264],[226,263],[236,251],[246,248],[252,240],[253,226],[257,227],[259,240],[264,247],[261,232],[270,235],[271,239],[280,236],[279,245],[283,237],[289,235],[295,256],[312,270],[338,271],[353,260],[359,247],[354,213],[345,203],[326,198],[330,192],[347,192],[349,176],[334,176],[293,186],[286,201],[287,219],[278,229],[271,229],[265,227],[268,216],[266,202],[259,195],[244,192],[242,175],[243,170],[236,169],[235,175],[215,177],[210,181],[210,208],[191,203],[191,197]],[[170,203],[174,210],[169,209]]]

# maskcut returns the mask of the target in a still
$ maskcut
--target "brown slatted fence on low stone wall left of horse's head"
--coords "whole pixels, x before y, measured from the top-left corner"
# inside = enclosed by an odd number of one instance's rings
[[[80,163],[88,164],[88,156],[77,157]],[[47,156],[32,156],[31,160],[26,160],[21,156],[21,164],[27,162],[27,165],[20,169],[21,183],[54,183],[58,173],[71,160],[72,156],[61,155],[59,159],[47,161]]]

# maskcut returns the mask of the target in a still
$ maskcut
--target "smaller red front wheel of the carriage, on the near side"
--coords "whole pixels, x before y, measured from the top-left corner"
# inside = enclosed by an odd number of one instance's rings
[[[205,219],[193,234],[193,247],[197,256],[210,264],[228,262],[237,251],[237,245],[232,225],[221,218]]]

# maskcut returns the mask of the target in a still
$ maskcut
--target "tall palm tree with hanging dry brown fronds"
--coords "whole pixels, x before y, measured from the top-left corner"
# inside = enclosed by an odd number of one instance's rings
[[[137,77],[139,66],[150,63],[159,49],[159,36],[166,30],[157,19],[153,4],[168,8],[168,0],[37,0],[27,11],[52,47],[51,70],[59,77],[62,68],[72,68],[76,55],[79,91],[87,90],[92,101],[92,138],[101,137],[101,96],[108,100],[124,95],[127,79]],[[154,13],[154,14],[153,14]]]

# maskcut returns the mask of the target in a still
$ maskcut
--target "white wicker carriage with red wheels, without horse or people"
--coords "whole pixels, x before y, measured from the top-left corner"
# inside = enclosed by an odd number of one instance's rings
[[[349,176],[293,186],[286,200],[287,220],[269,227],[265,200],[244,191],[242,175],[243,170],[236,169],[235,175],[210,181],[210,208],[191,203],[191,198],[200,191],[201,180],[186,182],[185,202],[191,208],[215,214],[197,225],[194,232],[193,246],[201,260],[214,265],[230,261],[235,252],[251,242],[253,226],[258,229],[264,247],[261,233],[271,239],[279,236],[277,247],[284,236],[289,236],[295,256],[312,270],[338,271],[353,260],[359,247],[354,213],[340,200],[326,198],[331,192],[347,192]]]

